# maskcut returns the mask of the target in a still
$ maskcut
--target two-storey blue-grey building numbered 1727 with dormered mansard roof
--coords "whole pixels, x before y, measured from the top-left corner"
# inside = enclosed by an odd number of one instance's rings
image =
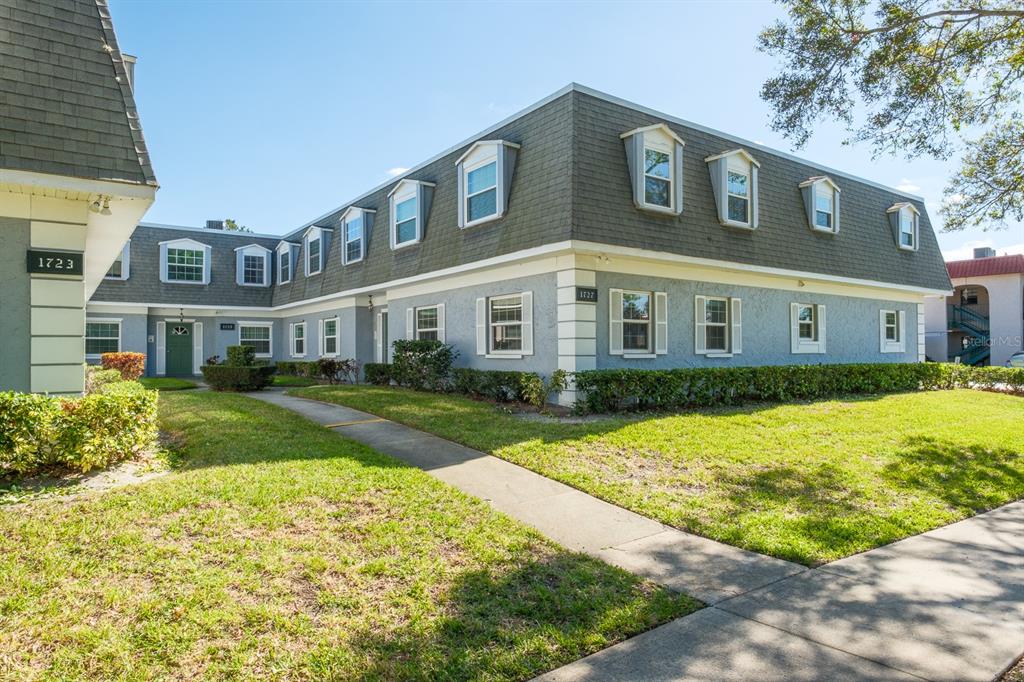
[[[912,363],[950,290],[920,198],[579,85],[284,238],[210,226],[136,229],[91,350],[156,375],[414,337],[543,374]]]

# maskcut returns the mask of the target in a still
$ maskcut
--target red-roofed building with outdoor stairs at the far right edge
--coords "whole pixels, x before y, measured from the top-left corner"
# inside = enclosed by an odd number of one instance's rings
[[[927,352],[934,360],[1006,365],[1024,349],[1024,255],[975,249],[946,263],[953,292],[926,303]]]

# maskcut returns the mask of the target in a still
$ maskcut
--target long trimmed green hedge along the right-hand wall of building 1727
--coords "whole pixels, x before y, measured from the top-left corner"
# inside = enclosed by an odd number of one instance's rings
[[[938,388],[1024,389],[1024,370],[947,364],[790,365],[575,374],[581,412],[678,410]]]

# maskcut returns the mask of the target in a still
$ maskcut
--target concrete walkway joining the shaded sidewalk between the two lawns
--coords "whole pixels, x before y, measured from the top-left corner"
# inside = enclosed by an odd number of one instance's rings
[[[1024,502],[807,569],[367,413],[251,395],[711,606],[543,680],[991,680],[1024,653]]]

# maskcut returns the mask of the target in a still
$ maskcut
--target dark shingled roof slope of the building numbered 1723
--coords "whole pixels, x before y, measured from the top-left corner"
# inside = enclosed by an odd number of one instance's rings
[[[156,183],[105,0],[0,0],[0,168]]]

